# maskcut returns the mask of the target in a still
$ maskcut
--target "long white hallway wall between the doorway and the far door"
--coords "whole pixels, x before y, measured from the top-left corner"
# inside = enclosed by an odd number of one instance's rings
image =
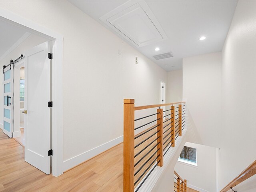
[[[136,106],[159,103],[167,72],[69,2],[0,1],[0,7],[64,37],[64,169],[123,135],[124,98]]]

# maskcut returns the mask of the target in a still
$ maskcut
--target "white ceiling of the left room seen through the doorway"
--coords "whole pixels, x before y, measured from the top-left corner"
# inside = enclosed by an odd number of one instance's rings
[[[23,28],[0,20],[0,60],[14,50],[28,36],[29,33]]]

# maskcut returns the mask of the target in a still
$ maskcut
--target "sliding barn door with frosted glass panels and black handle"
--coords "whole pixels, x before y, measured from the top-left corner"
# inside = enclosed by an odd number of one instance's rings
[[[4,69],[4,108],[3,108],[3,132],[12,138],[13,132],[13,73],[14,69],[10,66]]]

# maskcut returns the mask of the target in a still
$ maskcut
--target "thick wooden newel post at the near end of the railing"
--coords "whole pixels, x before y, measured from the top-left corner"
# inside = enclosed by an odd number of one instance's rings
[[[134,99],[124,99],[124,191],[134,192]]]

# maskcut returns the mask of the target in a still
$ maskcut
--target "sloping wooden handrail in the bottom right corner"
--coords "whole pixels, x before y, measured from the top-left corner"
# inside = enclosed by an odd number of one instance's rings
[[[243,170],[236,178],[234,178],[227,186],[225,186],[220,192],[227,192],[230,188],[242,183],[244,180],[254,176],[256,174],[256,160],[250,164],[245,170]]]

